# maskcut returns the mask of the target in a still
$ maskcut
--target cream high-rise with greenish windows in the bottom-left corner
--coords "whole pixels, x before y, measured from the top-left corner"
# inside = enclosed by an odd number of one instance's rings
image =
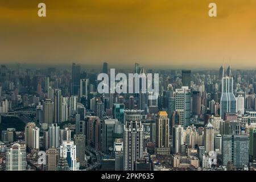
[[[5,171],[26,171],[26,145],[14,143],[5,149]]]

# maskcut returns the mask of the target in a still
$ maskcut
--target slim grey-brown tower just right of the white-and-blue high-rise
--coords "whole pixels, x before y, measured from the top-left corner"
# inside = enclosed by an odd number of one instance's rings
[[[76,157],[80,166],[85,166],[85,135],[75,135]]]

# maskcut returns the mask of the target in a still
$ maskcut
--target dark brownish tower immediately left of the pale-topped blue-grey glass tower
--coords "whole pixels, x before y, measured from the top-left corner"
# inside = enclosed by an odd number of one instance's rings
[[[96,116],[88,116],[85,119],[86,145],[100,150],[101,142],[101,121]]]

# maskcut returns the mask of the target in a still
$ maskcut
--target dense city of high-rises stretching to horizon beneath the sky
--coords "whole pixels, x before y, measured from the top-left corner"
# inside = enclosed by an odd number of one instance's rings
[[[159,73],[158,99],[99,94],[108,63],[1,65],[0,170],[256,170],[255,71],[127,72]]]

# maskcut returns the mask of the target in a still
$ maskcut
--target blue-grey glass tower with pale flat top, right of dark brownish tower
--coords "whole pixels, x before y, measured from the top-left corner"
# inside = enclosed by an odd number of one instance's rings
[[[116,119],[105,119],[102,125],[102,140],[105,153],[113,152],[114,149],[114,130]]]

